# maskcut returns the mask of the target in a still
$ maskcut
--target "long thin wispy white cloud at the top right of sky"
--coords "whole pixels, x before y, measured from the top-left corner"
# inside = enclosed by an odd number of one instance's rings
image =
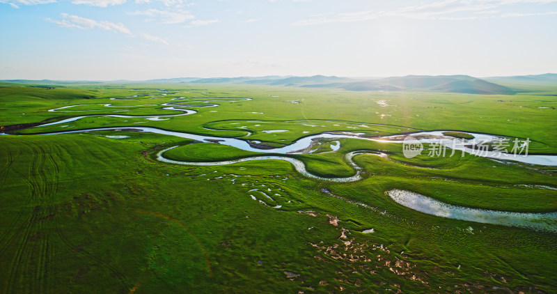
[[[557,0],[441,0],[432,3],[407,6],[386,11],[358,11],[354,13],[328,13],[311,15],[307,20],[299,20],[294,25],[326,24],[331,22],[361,22],[378,17],[407,17],[418,20],[476,20],[480,18],[509,17],[494,10],[512,4],[546,4]],[[468,13],[468,15],[466,15]],[[470,15],[473,13],[473,15]],[[462,15],[464,14],[464,15]],[[484,16],[478,16],[483,14]],[[549,15],[554,13],[512,13],[512,16]]]

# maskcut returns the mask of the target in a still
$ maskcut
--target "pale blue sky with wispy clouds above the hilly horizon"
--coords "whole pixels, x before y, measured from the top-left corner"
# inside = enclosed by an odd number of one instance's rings
[[[0,79],[557,72],[557,0],[0,0]]]

